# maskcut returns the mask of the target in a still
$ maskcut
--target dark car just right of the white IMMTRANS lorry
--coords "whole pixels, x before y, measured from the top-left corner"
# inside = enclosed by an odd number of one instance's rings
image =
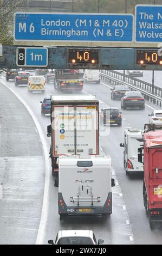
[[[117,124],[121,126],[122,118],[119,109],[116,107],[103,107],[100,112],[100,124]]]

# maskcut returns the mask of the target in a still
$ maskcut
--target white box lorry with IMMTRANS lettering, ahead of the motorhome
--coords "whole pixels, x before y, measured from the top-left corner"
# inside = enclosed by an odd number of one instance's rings
[[[51,96],[50,157],[55,186],[61,155],[99,154],[99,100],[93,95]]]

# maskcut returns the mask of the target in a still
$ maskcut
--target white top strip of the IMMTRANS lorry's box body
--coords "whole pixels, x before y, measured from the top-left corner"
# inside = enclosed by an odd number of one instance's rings
[[[51,95],[51,102],[99,102],[93,95]]]

